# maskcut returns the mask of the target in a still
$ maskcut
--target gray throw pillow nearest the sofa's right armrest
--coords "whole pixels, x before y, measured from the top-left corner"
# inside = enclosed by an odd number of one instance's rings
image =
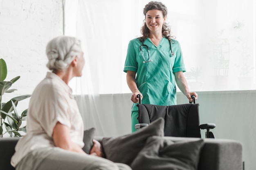
[[[150,137],[131,164],[132,170],[197,170],[204,140],[172,142]]]

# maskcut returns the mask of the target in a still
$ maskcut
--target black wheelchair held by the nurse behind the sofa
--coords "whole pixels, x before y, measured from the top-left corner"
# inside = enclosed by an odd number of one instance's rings
[[[164,118],[164,136],[173,137],[200,137],[200,129],[206,129],[205,138],[215,138],[210,129],[214,129],[216,124],[207,123],[201,124],[199,120],[199,104],[196,103],[195,96],[191,96],[193,102],[172,105],[172,106],[159,106],[141,104],[141,96],[138,95],[139,104],[139,124],[135,125],[137,130],[148,126],[159,117]]]

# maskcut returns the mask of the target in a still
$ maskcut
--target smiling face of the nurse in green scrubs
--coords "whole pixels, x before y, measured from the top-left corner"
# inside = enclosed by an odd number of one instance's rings
[[[157,9],[149,10],[146,13],[146,25],[150,32],[161,32],[162,27],[166,20],[166,17],[163,16],[162,11]]]

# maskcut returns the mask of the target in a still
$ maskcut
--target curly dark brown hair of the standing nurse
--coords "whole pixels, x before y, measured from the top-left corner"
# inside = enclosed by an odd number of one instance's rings
[[[151,1],[148,2],[148,4],[145,5],[144,9],[143,9],[143,13],[145,15],[145,19],[144,19],[144,25],[141,27],[141,34],[142,37],[139,37],[140,41],[145,41],[145,39],[147,39],[149,37],[149,29],[146,26],[146,13],[149,10],[152,9],[157,9],[159,11],[162,11],[163,13],[163,17],[167,16],[167,7],[162,4],[162,2],[157,2],[157,1]],[[171,40],[172,38],[174,38],[173,36],[171,36],[171,28],[168,24],[166,24],[164,22],[163,28],[162,28],[162,34],[169,40]]]

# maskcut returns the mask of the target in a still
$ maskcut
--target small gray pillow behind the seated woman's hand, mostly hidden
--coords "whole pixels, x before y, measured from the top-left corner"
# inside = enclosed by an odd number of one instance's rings
[[[93,146],[92,139],[94,138],[94,133],[95,133],[95,128],[90,128],[88,130],[83,131],[83,142],[84,142],[83,151],[85,151],[85,153],[90,154],[90,151]]]

